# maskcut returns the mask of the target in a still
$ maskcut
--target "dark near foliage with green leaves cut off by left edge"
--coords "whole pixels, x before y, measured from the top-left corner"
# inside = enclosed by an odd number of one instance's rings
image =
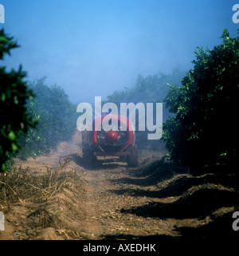
[[[0,30],[0,60],[10,54],[10,49],[18,47],[12,37],[7,37]],[[13,153],[20,148],[20,136],[29,127],[35,126],[35,121],[26,112],[25,103],[33,99],[33,92],[27,88],[24,81],[25,72],[22,67],[6,72],[6,67],[0,67],[0,171],[6,171]]]

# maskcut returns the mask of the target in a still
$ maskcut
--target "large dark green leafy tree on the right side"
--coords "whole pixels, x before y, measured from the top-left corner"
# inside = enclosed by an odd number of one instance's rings
[[[195,50],[194,69],[182,87],[170,86],[167,94],[166,106],[175,116],[163,126],[163,141],[177,163],[195,167],[236,160],[239,37],[224,30],[222,38],[214,49]]]

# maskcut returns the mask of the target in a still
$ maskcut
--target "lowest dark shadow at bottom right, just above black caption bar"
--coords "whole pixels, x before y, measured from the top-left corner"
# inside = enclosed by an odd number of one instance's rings
[[[232,228],[232,213],[229,212],[225,215],[214,219],[213,222],[198,226],[198,227],[176,227],[175,230],[180,231],[180,236],[170,236],[166,234],[156,234],[150,236],[135,236],[131,234],[108,234],[104,235],[105,240],[139,240],[143,242],[155,242],[158,246],[158,250],[161,250],[161,246],[191,246],[195,245],[208,245],[215,246],[214,249],[218,249],[221,246],[229,246],[237,244],[239,235],[237,231]],[[207,247],[208,249],[209,247]],[[198,248],[194,248],[198,251]]]

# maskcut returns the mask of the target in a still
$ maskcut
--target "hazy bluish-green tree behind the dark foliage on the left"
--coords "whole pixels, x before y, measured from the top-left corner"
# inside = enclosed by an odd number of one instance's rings
[[[30,128],[21,138],[22,149],[18,157],[26,160],[29,156],[49,153],[60,141],[69,140],[76,128],[75,109],[65,91],[59,86],[45,85],[45,78],[29,84],[36,97],[27,103],[28,113],[37,122],[37,128]]]

